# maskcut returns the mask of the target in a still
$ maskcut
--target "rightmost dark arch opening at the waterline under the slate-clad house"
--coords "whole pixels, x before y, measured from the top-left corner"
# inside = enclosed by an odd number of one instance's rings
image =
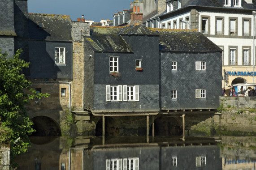
[[[150,127],[152,135],[152,126]],[[159,116],[155,119],[155,136],[179,136],[182,135],[182,125],[174,117]]]

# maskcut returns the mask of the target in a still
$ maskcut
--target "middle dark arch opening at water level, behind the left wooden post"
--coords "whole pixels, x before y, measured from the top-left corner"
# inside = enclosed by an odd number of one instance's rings
[[[102,136],[102,117],[96,124],[95,136]],[[109,116],[105,117],[105,136],[119,136],[119,127],[115,119]]]

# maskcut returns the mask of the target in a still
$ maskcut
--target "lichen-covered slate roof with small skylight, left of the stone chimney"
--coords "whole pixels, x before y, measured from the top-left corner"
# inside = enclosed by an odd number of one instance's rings
[[[43,22],[45,28],[40,29],[37,22]],[[30,39],[72,41],[69,15],[29,13],[28,30]]]

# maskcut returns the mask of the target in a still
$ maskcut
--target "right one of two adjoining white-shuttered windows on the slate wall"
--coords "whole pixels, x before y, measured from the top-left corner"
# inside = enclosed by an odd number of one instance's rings
[[[123,101],[139,101],[139,86],[123,85]]]

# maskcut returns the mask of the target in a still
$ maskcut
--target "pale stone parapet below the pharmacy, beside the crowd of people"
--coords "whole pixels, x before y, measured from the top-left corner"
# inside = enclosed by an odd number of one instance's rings
[[[220,97],[220,104],[223,107],[230,105],[236,108],[256,108],[256,97]]]

